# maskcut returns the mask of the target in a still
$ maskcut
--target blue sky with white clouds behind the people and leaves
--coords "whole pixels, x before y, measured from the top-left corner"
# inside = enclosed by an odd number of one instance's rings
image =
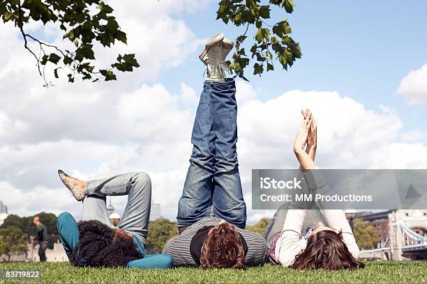
[[[295,1],[287,15],[303,57],[290,71],[237,81],[239,163],[249,223],[252,168],[294,168],[299,110],[319,123],[322,168],[427,168],[426,1]],[[202,90],[197,55],[218,32],[218,1],[110,1],[128,45],[97,47],[100,64],[132,52],[141,67],[118,81],[43,88],[11,24],[0,35],[0,200],[10,213],[70,211],[82,216],[57,169],[83,180],[146,171],[153,200],[174,220]],[[275,10],[271,23],[283,13]],[[63,45],[54,26],[28,31]],[[249,72],[250,70],[248,70]],[[119,212],[126,198],[114,198]]]

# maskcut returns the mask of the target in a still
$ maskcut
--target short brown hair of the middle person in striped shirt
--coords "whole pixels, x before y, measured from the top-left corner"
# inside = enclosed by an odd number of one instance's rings
[[[200,254],[200,267],[243,269],[245,259],[241,236],[229,223],[211,228],[204,239]]]

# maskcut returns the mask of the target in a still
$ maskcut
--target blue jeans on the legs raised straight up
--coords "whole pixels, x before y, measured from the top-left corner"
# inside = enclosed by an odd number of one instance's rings
[[[233,79],[205,81],[193,126],[193,152],[178,205],[178,227],[209,214],[246,226],[246,203],[237,161],[237,102]]]

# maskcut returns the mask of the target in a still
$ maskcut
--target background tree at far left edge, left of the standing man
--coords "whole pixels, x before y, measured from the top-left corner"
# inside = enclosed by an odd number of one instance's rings
[[[0,229],[0,254],[10,255],[27,253],[27,239],[22,230],[15,226],[6,229]]]

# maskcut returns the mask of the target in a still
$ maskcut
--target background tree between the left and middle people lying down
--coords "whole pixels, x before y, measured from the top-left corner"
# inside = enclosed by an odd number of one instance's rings
[[[176,222],[164,218],[149,223],[147,253],[161,253],[168,239],[178,235]]]

